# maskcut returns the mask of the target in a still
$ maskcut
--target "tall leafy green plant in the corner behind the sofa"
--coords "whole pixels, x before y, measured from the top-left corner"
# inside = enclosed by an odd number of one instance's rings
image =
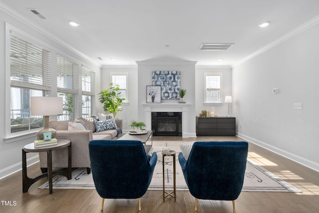
[[[121,105],[125,98],[121,98],[119,85],[110,83],[110,88],[102,90],[99,94],[101,95],[99,99],[103,104],[104,112],[113,113],[115,117],[118,111],[122,111]]]

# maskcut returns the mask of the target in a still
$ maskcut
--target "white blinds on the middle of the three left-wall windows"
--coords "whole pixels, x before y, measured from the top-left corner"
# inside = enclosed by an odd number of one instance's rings
[[[57,56],[57,87],[59,92],[78,93],[78,64]]]

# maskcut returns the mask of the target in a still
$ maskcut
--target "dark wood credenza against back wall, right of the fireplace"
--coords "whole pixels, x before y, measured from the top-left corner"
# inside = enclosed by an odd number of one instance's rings
[[[196,136],[235,135],[235,117],[196,117]]]

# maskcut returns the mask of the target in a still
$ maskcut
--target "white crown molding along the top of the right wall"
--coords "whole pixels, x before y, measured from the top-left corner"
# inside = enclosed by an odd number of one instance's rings
[[[274,40],[273,42],[267,44],[266,46],[264,46],[263,48],[257,50],[256,52],[254,52],[253,54],[243,58],[242,60],[240,60],[239,62],[235,63],[234,65],[232,65],[232,67],[236,67],[254,57],[256,57],[257,55],[266,52],[267,50],[277,46],[278,44],[298,35],[299,33],[317,25],[319,23],[319,15],[317,15],[316,17],[310,19],[309,21],[305,22],[304,24],[298,26],[297,28],[291,30],[290,32],[284,34],[283,36],[277,38],[276,40]]]

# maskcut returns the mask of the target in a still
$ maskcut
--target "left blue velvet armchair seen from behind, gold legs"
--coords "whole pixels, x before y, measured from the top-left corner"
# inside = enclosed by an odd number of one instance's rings
[[[139,199],[152,180],[157,154],[145,153],[141,141],[92,140],[89,143],[91,170],[97,193],[104,199]]]

